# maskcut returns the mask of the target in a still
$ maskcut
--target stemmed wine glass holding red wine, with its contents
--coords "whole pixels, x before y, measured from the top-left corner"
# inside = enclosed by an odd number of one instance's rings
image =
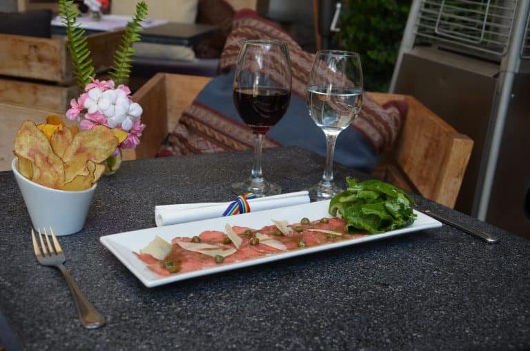
[[[262,148],[264,135],[282,117],[291,100],[291,59],[287,43],[275,40],[244,41],[233,85],[234,104],[239,116],[255,137],[251,177],[234,183],[237,194],[253,192],[257,197],[279,194],[278,185],[264,179]]]

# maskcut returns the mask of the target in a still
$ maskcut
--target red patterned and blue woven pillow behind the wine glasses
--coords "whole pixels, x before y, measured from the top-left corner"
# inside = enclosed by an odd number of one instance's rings
[[[289,45],[293,69],[293,95],[284,117],[266,134],[264,147],[300,146],[326,153],[324,133],[308,114],[305,95],[314,54],[304,52],[281,28],[251,10],[237,12],[220,58],[222,74],[208,83],[189,106],[159,156],[223,152],[253,148],[251,130],[235,110],[232,84],[235,62],[242,39],[280,39]],[[380,106],[364,97],[360,116],[337,139],[335,161],[372,172],[378,154],[395,139],[406,105],[401,102]],[[397,107],[396,107],[397,106]],[[402,110],[400,113],[400,109]]]

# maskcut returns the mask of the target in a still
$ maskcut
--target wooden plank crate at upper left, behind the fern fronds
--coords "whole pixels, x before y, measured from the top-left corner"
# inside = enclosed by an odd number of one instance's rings
[[[88,36],[97,72],[108,70],[121,42],[119,32]],[[52,39],[0,34],[0,101],[65,112],[79,94],[66,37]]]

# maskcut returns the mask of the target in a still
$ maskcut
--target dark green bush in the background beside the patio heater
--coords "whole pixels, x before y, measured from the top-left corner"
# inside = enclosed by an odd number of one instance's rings
[[[360,53],[366,90],[388,90],[410,6],[411,0],[344,1],[338,45]]]

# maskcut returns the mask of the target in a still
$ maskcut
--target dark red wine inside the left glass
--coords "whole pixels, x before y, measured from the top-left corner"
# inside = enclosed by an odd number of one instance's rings
[[[265,134],[284,117],[290,99],[291,91],[282,88],[234,90],[234,104],[239,116],[258,134]]]

